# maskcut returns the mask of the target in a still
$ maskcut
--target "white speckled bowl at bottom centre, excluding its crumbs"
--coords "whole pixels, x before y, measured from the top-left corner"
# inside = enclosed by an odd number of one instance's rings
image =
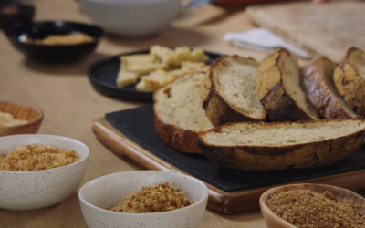
[[[130,192],[142,186],[170,182],[183,191],[193,204],[170,212],[125,213],[103,208],[116,206]],[[170,171],[125,171],[89,181],[78,192],[81,210],[89,228],[195,228],[203,219],[208,188],[202,181]]]

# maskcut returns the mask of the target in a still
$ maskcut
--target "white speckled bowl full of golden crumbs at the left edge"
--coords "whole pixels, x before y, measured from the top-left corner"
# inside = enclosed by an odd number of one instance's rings
[[[87,168],[89,148],[55,135],[0,137],[0,208],[34,210],[66,200]]]

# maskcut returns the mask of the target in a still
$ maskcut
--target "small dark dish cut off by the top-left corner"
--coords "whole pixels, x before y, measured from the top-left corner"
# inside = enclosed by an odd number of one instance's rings
[[[8,26],[31,24],[35,15],[36,8],[33,5],[7,1],[0,5],[0,27],[4,29]]]

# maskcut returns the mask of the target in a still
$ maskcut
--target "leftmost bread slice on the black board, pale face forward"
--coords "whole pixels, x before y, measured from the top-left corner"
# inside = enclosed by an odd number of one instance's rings
[[[200,98],[204,73],[185,75],[154,93],[154,122],[161,139],[177,150],[201,153],[198,134],[213,128]]]

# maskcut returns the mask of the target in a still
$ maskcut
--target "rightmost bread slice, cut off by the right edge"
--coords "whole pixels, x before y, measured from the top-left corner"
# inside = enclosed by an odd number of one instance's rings
[[[365,52],[349,48],[336,67],[333,80],[349,107],[365,116]]]

